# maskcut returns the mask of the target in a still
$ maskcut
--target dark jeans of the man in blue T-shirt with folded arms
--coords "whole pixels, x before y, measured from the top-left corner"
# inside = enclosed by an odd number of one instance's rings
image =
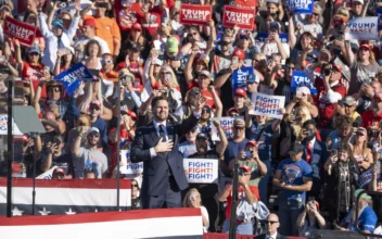
[[[297,217],[304,211],[304,206],[301,209],[288,209],[279,207],[279,221],[280,227],[279,232],[285,236],[298,236],[297,229]]]

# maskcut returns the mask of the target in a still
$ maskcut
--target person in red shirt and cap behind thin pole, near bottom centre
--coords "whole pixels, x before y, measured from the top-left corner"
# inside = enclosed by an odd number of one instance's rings
[[[246,201],[249,204],[254,205],[260,200],[258,188],[256,186],[249,185],[251,179],[251,168],[249,166],[242,165],[239,167],[239,198],[238,205],[242,201]],[[226,221],[222,225],[222,232],[229,231],[229,224],[231,218],[231,206],[232,206],[232,185],[227,185],[224,191],[218,196],[220,202],[227,201],[226,206]],[[252,210],[255,210],[256,206],[252,206]],[[246,215],[253,215],[252,212],[244,212]],[[238,215],[238,211],[237,211]],[[240,218],[237,216],[237,234],[240,235],[253,235],[253,224],[254,217]]]

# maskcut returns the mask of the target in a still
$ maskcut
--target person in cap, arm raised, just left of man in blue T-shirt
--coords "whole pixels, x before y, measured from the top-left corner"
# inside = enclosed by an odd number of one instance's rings
[[[258,188],[259,180],[267,174],[267,165],[265,165],[257,153],[257,142],[250,140],[245,143],[245,150],[239,152],[238,156],[229,164],[229,169],[233,171],[234,164],[238,162],[240,166],[245,165],[251,169],[251,178],[249,185]]]

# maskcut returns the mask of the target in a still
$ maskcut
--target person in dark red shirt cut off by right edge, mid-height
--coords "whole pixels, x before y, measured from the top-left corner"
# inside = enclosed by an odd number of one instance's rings
[[[382,93],[375,93],[372,100],[371,110],[366,111],[361,115],[362,127],[368,129],[369,140],[378,138],[381,130],[382,122]]]

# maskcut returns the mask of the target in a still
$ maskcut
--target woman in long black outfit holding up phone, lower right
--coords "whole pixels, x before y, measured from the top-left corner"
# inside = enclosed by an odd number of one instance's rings
[[[323,191],[323,205],[329,212],[330,225],[340,224],[353,203],[353,193],[358,188],[360,169],[353,156],[352,148],[343,142],[323,165],[328,175]]]

